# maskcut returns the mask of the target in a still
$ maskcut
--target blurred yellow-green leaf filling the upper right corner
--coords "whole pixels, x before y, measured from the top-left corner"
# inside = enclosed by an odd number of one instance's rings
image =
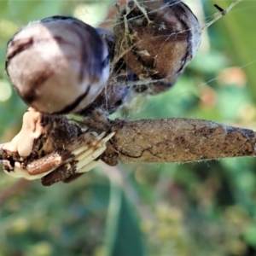
[[[222,0],[219,5],[225,9],[232,2],[235,1]],[[213,4],[216,1],[211,0],[211,3],[213,9]],[[226,51],[229,51],[229,55],[239,63],[247,74],[248,86],[254,101],[256,100],[255,9],[256,1],[243,0],[212,25],[218,27],[218,40],[226,41],[226,45],[229,46]]]

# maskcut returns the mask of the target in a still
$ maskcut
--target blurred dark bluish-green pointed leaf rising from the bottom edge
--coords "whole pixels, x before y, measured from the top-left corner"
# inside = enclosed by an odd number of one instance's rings
[[[111,183],[105,241],[107,255],[145,255],[138,219],[117,183]]]

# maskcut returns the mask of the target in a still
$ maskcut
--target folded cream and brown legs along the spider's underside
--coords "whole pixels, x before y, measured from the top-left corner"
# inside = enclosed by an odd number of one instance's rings
[[[73,168],[73,174],[89,172],[93,167],[102,163],[102,160],[96,160],[106,149],[106,143],[113,137],[114,132],[106,136],[106,132],[100,135],[90,134],[90,138],[84,142],[83,139],[75,141],[67,149],[62,149],[48,154],[39,160],[34,160],[22,168],[20,162],[15,161],[15,166],[11,166],[9,160],[1,160],[3,170],[12,177],[24,177],[32,180],[42,178],[57,168],[63,166],[63,170]],[[85,134],[86,136],[86,134]],[[84,137],[84,135],[82,135]],[[78,147],[78,148],[77,148]]]

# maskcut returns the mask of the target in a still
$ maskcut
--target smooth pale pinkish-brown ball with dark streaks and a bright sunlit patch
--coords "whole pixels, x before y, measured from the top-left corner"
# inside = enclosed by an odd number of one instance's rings
[[[42,113],[78,113],[109,77],[108,47],[71,17],[32,22],[9,41],[6,70],[20,97]]]

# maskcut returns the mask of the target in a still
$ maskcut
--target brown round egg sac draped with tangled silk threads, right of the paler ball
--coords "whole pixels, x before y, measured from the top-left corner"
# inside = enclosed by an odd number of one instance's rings
[[[116,51],[139,79],[172,84],[201,44],[201,27],[178,0],[131,1],[114,26]]]

